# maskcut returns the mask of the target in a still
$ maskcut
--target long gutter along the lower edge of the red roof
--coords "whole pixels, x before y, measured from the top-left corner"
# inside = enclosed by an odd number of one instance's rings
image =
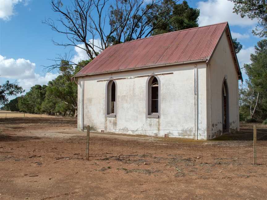
[[[200,60],[190,60],[190,61],[177,62],[177,63],[168,63],[168,64],[163,64],[163,65],[152,65],[152,66],[137,67],[137,68],[131,68],[131,69],[120,69],[120,70],[113,70],[113,71],[107,71],[107,72],[81,74],[81,75],[75,75],[74,77],[95,76],[95,75],[100,75],[100,74],[127,72],[127,71],[134,71],[134,70],[138,70],[138,69],[150,69],[150,68],[156,68],[156,67],[167,67],[167,66],[173,66],[173,65],[183,65],[183,64],[206,62],[206,61],[207,61],[207,59],[205,58],[205,59],[200,59]]]

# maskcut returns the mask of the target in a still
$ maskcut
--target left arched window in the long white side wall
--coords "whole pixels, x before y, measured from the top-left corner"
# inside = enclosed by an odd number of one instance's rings
[[[106,85],[106,117],[116,117],[117,84],[109,81]]]

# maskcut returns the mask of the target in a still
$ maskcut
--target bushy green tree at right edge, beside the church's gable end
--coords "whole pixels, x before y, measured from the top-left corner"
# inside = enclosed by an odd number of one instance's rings
[[[263,120],[267,118],[267,40],[257,43],[250,60],[251,64],[244,65],[248,86],[239,90],[240,106],[244,107],[243,113],[249,113],[246,117]]]

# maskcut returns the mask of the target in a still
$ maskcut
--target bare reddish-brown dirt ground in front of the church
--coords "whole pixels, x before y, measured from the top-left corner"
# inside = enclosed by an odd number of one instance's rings
[[[250,128],[213,141],[92,133],[87,161],[75,126],[0,119],[0,199],[267,199],[265,129],[252,165]]]

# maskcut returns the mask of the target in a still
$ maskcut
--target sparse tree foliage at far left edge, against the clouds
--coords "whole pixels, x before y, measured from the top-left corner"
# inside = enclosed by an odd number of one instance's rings
[[[6,83],[0,85],[0,105],[6,104],[9,96],[16,96],[24,91],[16,82],[10,83],[6,81]]]

